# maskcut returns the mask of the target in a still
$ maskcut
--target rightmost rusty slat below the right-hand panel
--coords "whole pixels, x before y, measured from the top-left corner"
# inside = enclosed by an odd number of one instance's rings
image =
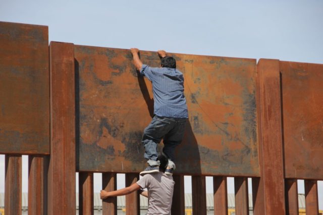
[[[317,181],[304,180],[306,214],[318,214]]]

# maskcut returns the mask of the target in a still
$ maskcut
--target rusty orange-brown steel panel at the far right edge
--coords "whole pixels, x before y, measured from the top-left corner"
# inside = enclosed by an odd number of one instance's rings
[[[323,64],[280,61],[285,177],[323,180]]]

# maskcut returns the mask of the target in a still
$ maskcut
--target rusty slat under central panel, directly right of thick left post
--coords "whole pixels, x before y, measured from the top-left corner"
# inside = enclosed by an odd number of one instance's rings
[[[93,173],[79,173],[79,214],[94,214]]]

